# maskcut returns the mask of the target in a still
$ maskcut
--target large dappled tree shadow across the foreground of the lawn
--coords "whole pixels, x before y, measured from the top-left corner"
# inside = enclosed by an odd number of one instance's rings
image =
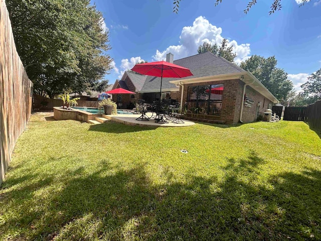
[[[142,164],[123,170],[102,160],[95,173],[66,172],[58,188],[39,197],[42,185],[50,189],[58,181],[48,176],[26,184],[30,195],[14,189],[0,200],[9,212],[0,222],[0,237],[16,232],[14,238],[27,240],[321,238],[319,171],[284,172],[264,183],[259,173],[265,160],[254,152],[228,162],[223,180],[189,174],[173,181],[166,169],[166,181],[155,184]]]

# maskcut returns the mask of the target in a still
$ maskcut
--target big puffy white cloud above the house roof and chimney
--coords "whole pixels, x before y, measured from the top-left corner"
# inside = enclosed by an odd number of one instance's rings
[[[164,51],[156,50],[153,55],[154,60],[165,60],[166,54],[171,52],[175,59],[181,59],[197,54],[197,49],[204,42],[210,42],[212,45],[222,43],[222,29],[212,25],[207,19],[200,16],[195,19],[193,26],[183,28],[180,36],[180,44],[169,46]],[[229,40],[229,46],[233,45],[234,52],[237,54],[236,63],[240,63],[250,54],[250,44],[238,44],[235,40]]]

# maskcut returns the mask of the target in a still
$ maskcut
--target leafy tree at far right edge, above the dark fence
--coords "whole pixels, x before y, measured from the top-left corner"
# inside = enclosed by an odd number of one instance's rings
[[[306,104],[312,104],[321,99],[321,68],[312,73],[304,84],[301,85],[302,96],[306,98]]]

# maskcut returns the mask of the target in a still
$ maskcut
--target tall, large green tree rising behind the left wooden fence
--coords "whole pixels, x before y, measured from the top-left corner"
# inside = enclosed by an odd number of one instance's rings
[[[106,85],[108,32],[89,0],[7,0],[18,53],[43,96]]]

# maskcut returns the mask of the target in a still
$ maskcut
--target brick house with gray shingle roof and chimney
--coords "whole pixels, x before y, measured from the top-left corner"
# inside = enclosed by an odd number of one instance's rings
[[[135,98],[152,102],[172,98],[187,103],[188,114],[205,122],[254,122],[258,113],[272,108],[276,97],[250,72],[210,52],[197,54],[173,61],[173,54],[167,55],[168,62],[189,68],[193,76],[185,78],[163,78],[162,96],[159,96],[160,79],[126,71],[113,88],[122,87],[136,94],[113,96],[122,106],[129,106]],[[119,100],[119,101],[118,101]],[[133,106],[133,104],[132,104]]]

